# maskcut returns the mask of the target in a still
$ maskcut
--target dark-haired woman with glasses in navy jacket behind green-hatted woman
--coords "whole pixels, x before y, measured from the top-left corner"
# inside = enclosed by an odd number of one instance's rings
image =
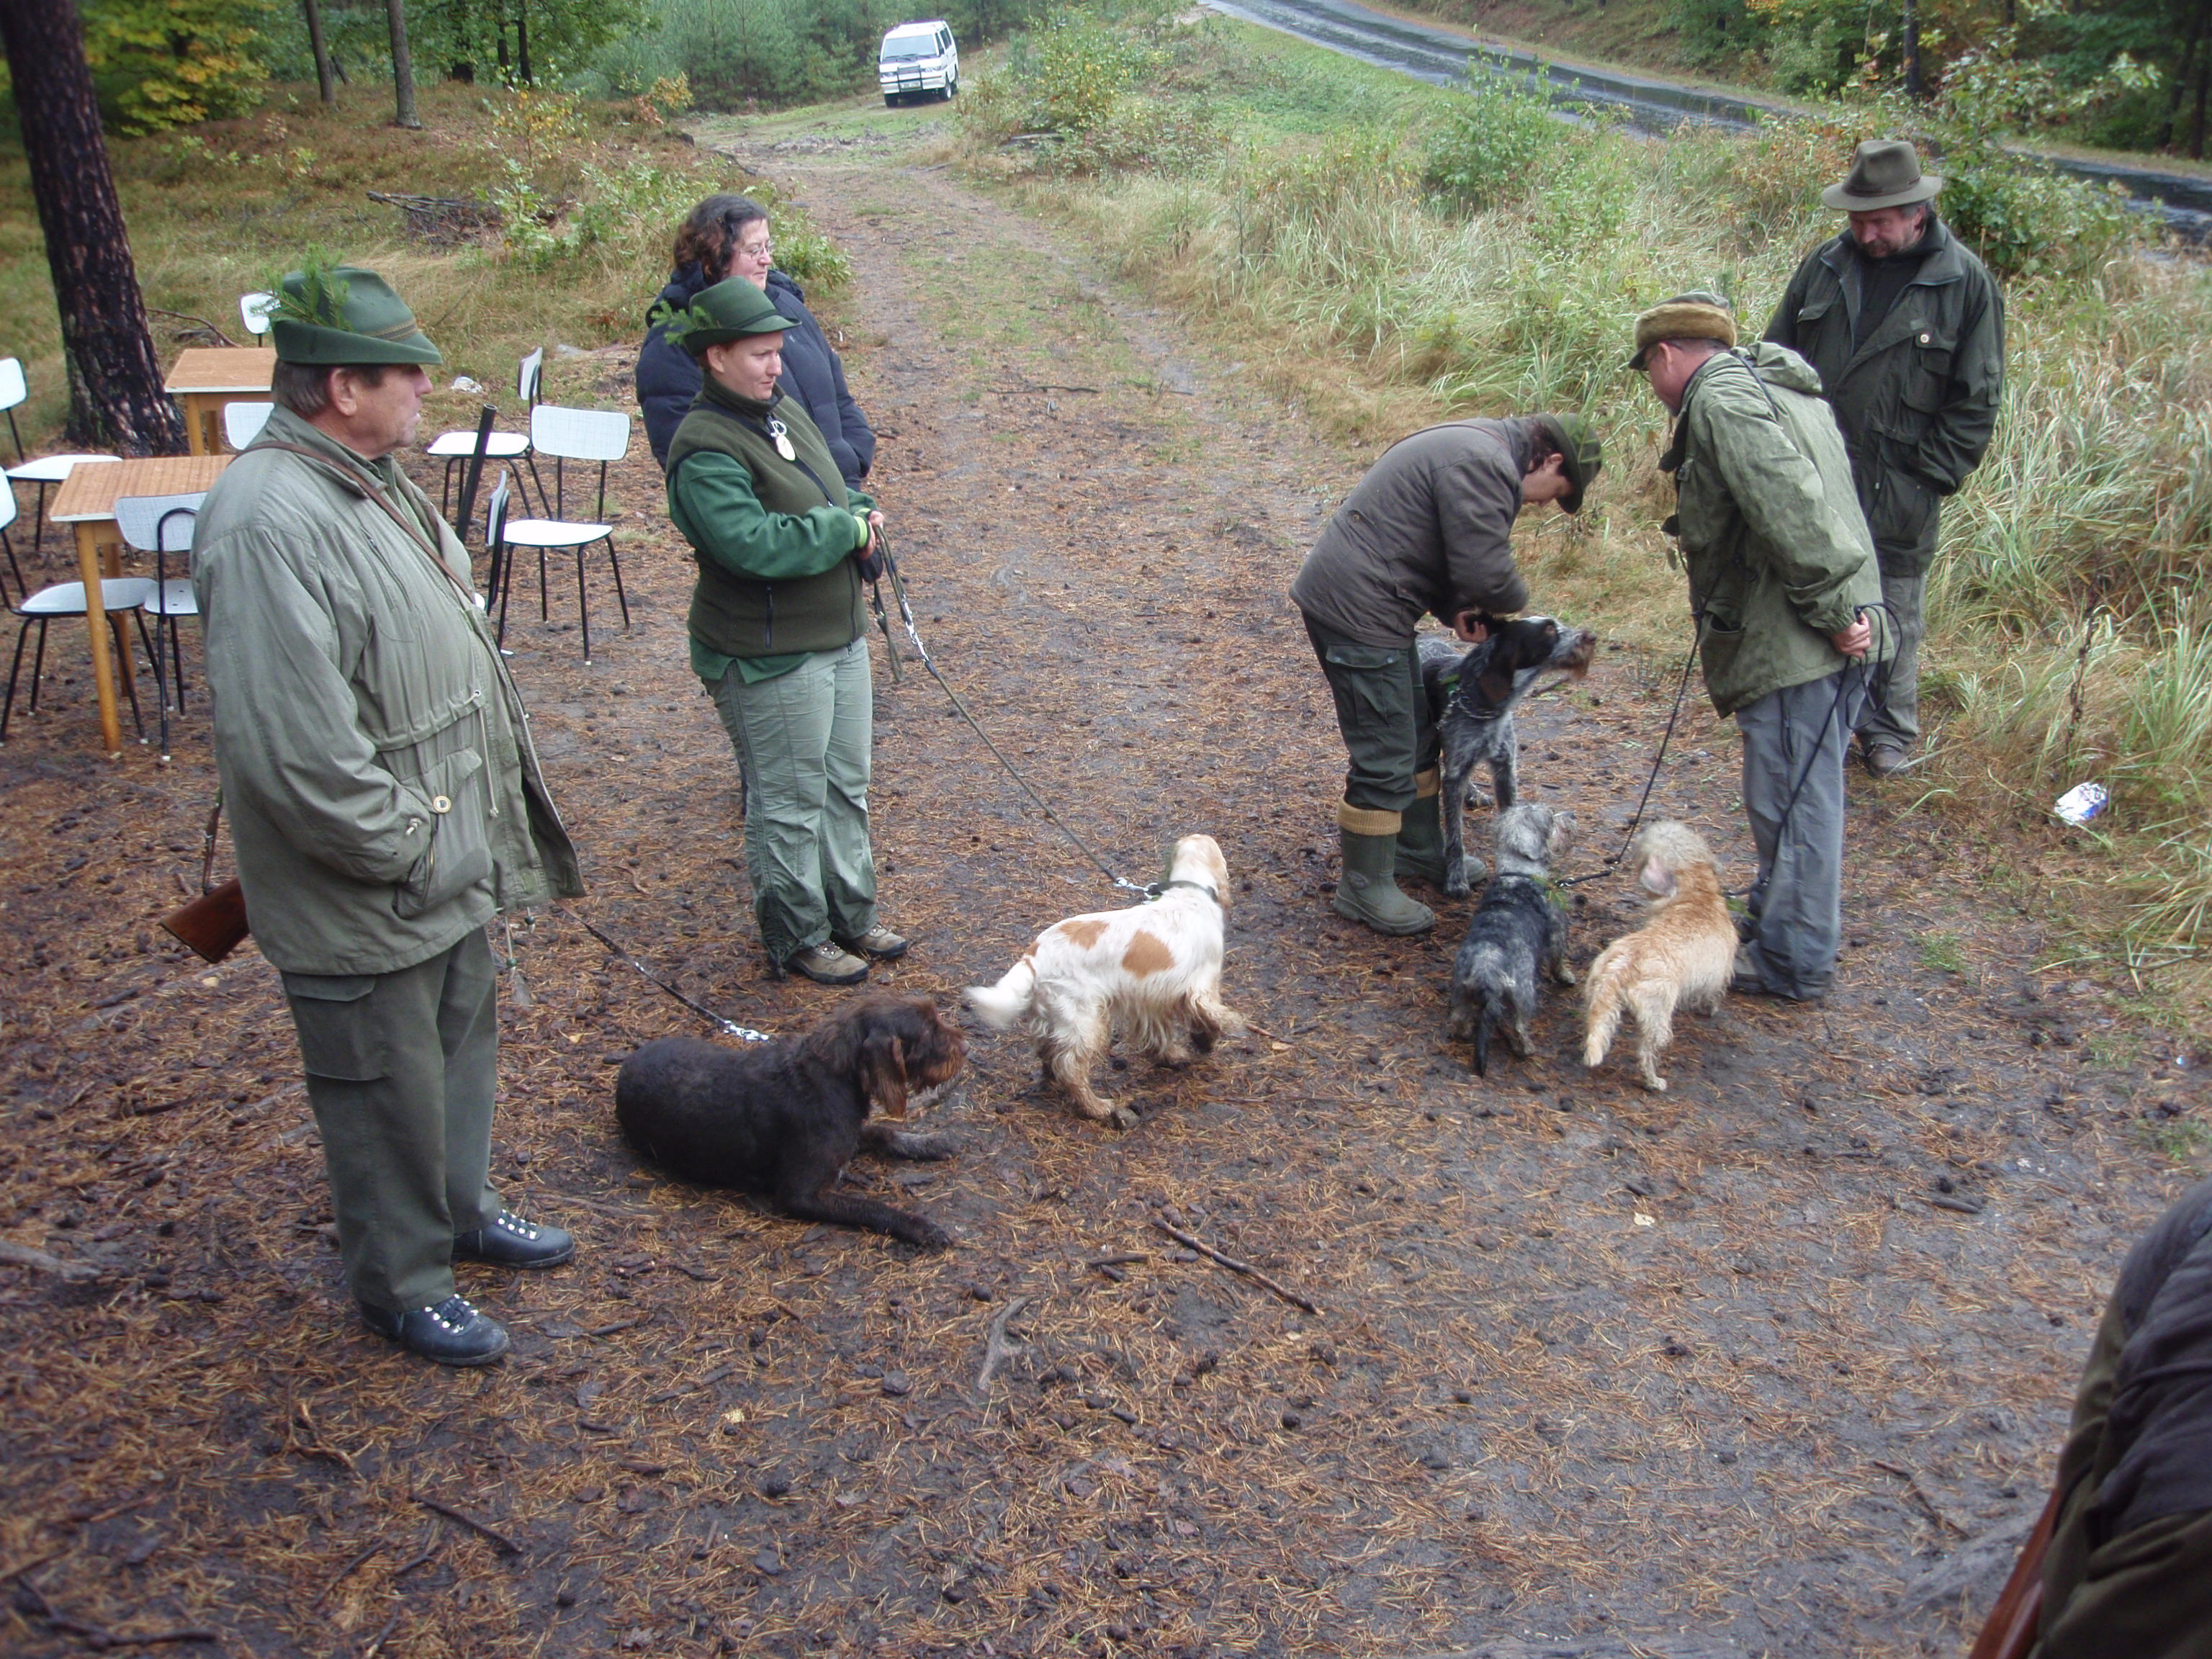
[[[799,283],[774,268],[774,252],[768,234],[768,210],[759,201],[752,197],[708,197],[690,210],[684,228],[677,230],[675,274],[650,310],[666,303],[681,312],[728,276],[743,276],[765,292],[776,303],[776,312],[794,323],[783,336],[779,385],[821,427],[830,458],[836,460],[845,482],[858,489],[876,460],[876,434],[869,429],[867,416],[860,414],[860,405],[852,400],[852,392],[845,389],[845,365],[838,363],[830,336],[807,310]],[[637,354],[637,407],[644,409],[646,440],[664,471],[668,442],[677,436],[692,398],[699,396],[699,385],[697,358],[670,345],[664,327],[650,327],[646,345]]]

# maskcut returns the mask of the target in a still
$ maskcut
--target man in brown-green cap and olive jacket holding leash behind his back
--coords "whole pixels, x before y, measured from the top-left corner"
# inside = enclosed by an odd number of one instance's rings
[[[1674,414],[1659,469],[1674,473],[1705,695],[1743,734],[1759,878],[1730,989],[1809,1002],[1843,936],[1843,759],[1867,701],[1854,659],[1874,646],[1882,580],[1820,376],[1787,347],[1734,343],[1719,296],[1681,294],[1637,319],[1628,367]]]

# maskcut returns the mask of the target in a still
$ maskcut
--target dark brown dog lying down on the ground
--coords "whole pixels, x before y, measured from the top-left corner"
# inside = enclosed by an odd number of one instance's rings
[[[759,1192],[801,1221],[889,1232],[942,1248],[951,1234],[889,1203],[836,1190],[863,1146],[885,1157],[951,1157],[945,1135],[876,1119],[907,1115],[907,1097],[938,1088],[967,1060],[960,1026],[929,998],[847,1000],[803,1037],[723,1048],[657,1037],[622,1062],[615,1119],[630,1146],[699,1186]]]

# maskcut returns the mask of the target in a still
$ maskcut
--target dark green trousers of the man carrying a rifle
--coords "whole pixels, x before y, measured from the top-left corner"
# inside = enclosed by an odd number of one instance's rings
[[[453,1294],[453,1234],[500,1212],[500,980],[482,929],[396,973],[285,973],[345,1283],[369,1307]]]

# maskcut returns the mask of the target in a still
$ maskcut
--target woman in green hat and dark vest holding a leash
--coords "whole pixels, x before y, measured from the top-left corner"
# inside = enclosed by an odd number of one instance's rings
[[[668,445],[668,515],[699,560],[692,672],[752,785],[745,869],[776,971],[858,984],[907,940],[876,920],[863,571],[883,513],[787,398],[796,327],[741,276],[659,319],[706,376]]]

